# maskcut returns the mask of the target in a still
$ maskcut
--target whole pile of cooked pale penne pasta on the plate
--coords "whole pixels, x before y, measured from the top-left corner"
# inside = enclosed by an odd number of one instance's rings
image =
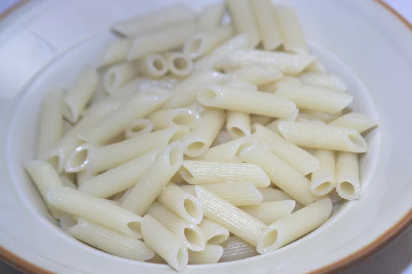
[[[113,31],[100,67],[45,97],[25,163],[69,235],[183,271],[275,251],[359,197],[376,122],[347,111],[293,8],[173,5]]]

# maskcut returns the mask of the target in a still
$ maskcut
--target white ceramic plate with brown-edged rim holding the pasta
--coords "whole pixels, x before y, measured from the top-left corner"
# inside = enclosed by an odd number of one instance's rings
[[[113,21],[178,0],[25,1],[0,23],[0,253],[33,273],[174,273],[92,249],[46,214],[21,168],[32,159],[41,99],[98,59]],[[214,1],[185,2],[196,10]],[[279,2],[279,1],[277,1]],[[310,49],[354,95],[352,108],[379,121],[367,136],[362,195],[310,235],[274,253],[189,266],[185,273],[326,273],[361,260],[412,220],[412,26],[379,1],[288,0]],[[409,27],[411,29],[409,29]]]

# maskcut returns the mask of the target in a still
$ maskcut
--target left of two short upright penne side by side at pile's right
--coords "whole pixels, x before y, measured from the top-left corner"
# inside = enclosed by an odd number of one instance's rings
[[[334,189],[335,152],[333,150],[316,150],[314,156],[321,163],[319,169],[314,170],[310,181],[310,190],[316,196],[326,195]]]

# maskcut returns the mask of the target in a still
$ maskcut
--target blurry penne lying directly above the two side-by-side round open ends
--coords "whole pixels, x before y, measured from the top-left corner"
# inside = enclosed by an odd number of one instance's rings
[[[194,32],[196,32],[196,23],[187,21],[136,36],[127,59],[136,60],[150,54],[178,49]]]

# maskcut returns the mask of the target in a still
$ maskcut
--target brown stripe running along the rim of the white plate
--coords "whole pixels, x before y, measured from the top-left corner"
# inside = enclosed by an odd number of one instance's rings
[[[5,19],[6,16],[12,14],[15,10],[21,8],[21,6],[28,3],[30,0],[21,0],[18,3],[12,5],[8,10],[0,14],[0,21]],[[390,5],[385,3],[383,0],[373,0],[376,3],[382,5],[385,9],[389,10],[396,16],[400,21],[402,21],[409,29],[412,31],[412,24],[407,21],[402,15],[400,15],[396,10],[393,10]],[[362,249],[359,249],[355,253],[348,255],[347,257],[333,262],[332,264],[328,264],[327,266],[323,266],[320,269],[312,271],[308,274],[325,274],[325,273],[336,273],[346,269],[349,266],[364,260],[365,258],[369,257],[370,255],[376,253],[379,249],[385,247],[389,242],[396,238],[402,231],[406,230],[410,225],[412,225],[412,209],[409,209],[407,214],[405,214],[395,225],[393,225],[390,229],[382,233],[381,236],[376,238],[373,242],[367,244]],[[36,266],[36,264],[32,264],[31,262],[19,257],[18,255],[8,251],[4,247],[0,245],[0,259],[7,262],[8,264],[12,265],[14,268],[23,271],[24,273],[28,274],[56,274],[54,272],[47,271],[46,269],[41,268],[40,266]]]

